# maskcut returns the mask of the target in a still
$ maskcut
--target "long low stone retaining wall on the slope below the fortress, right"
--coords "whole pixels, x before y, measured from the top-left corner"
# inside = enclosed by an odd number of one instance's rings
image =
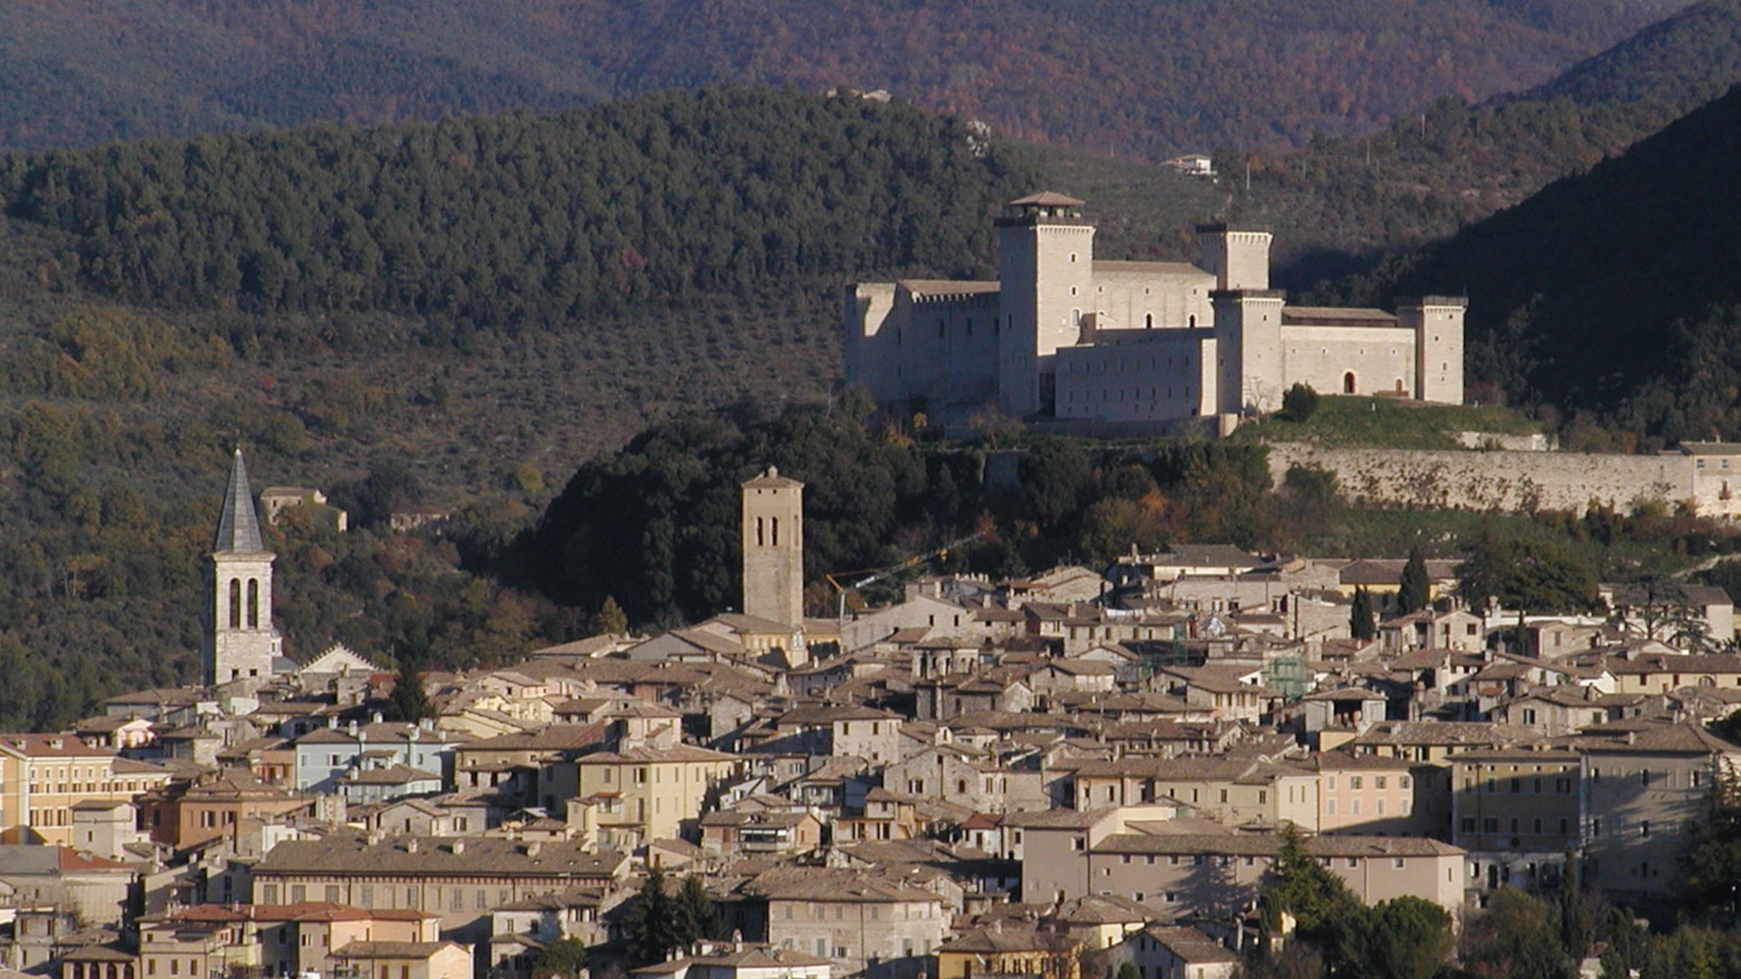
[[[1642,502],[1692,502],[1703,516],[1741,516],[1741,500],[1724,498],[1722,481],[1696,479],[1685,455],[1269,446],[1278,486],[1295,465],[1334,472],[1344,498],[1368,505],[1583,514],[1591,502],[1623,512]]]

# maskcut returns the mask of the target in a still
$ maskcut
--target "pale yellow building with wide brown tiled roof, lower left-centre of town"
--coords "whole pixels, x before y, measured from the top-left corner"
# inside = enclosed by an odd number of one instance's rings
[[[738,758],[679,744],[601,751],[575,761],[578,796],[597,800],[599,845],[635,848],[695,836],[707,791],[738,770]]]

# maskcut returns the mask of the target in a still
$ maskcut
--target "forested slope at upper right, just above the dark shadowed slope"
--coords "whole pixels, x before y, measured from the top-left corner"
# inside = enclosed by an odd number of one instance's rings
[[[1703,0],[1530,92],[1440,99],[1367,136],[1222,169],[1241,219],[1276,228],[1283,284],[1299,289],[1518,204],[1738,82],[1741,0]]]

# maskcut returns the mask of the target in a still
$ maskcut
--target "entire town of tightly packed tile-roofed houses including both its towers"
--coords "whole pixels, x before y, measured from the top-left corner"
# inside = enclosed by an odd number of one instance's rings
[[[771,470],[745,611],[425,674],[430,716],[392,721],[392,671],[289,662],[252,613],[245,479],[209,683],[0,735],[0,965],[529,979],[575,939],[602,972],[637,965],[625,902],[662,871],[733,937],[648,979],[1222,979],[1288,827],[1367,902],[1461,918],[1576,859],[1649,906],[1741,756],[1708,730],[1741,706],[1715,589],[1520,629],[1457,608],[1442,563],[1400,613],[1400,559],[1180,545],[804,618],[803,484]]]

